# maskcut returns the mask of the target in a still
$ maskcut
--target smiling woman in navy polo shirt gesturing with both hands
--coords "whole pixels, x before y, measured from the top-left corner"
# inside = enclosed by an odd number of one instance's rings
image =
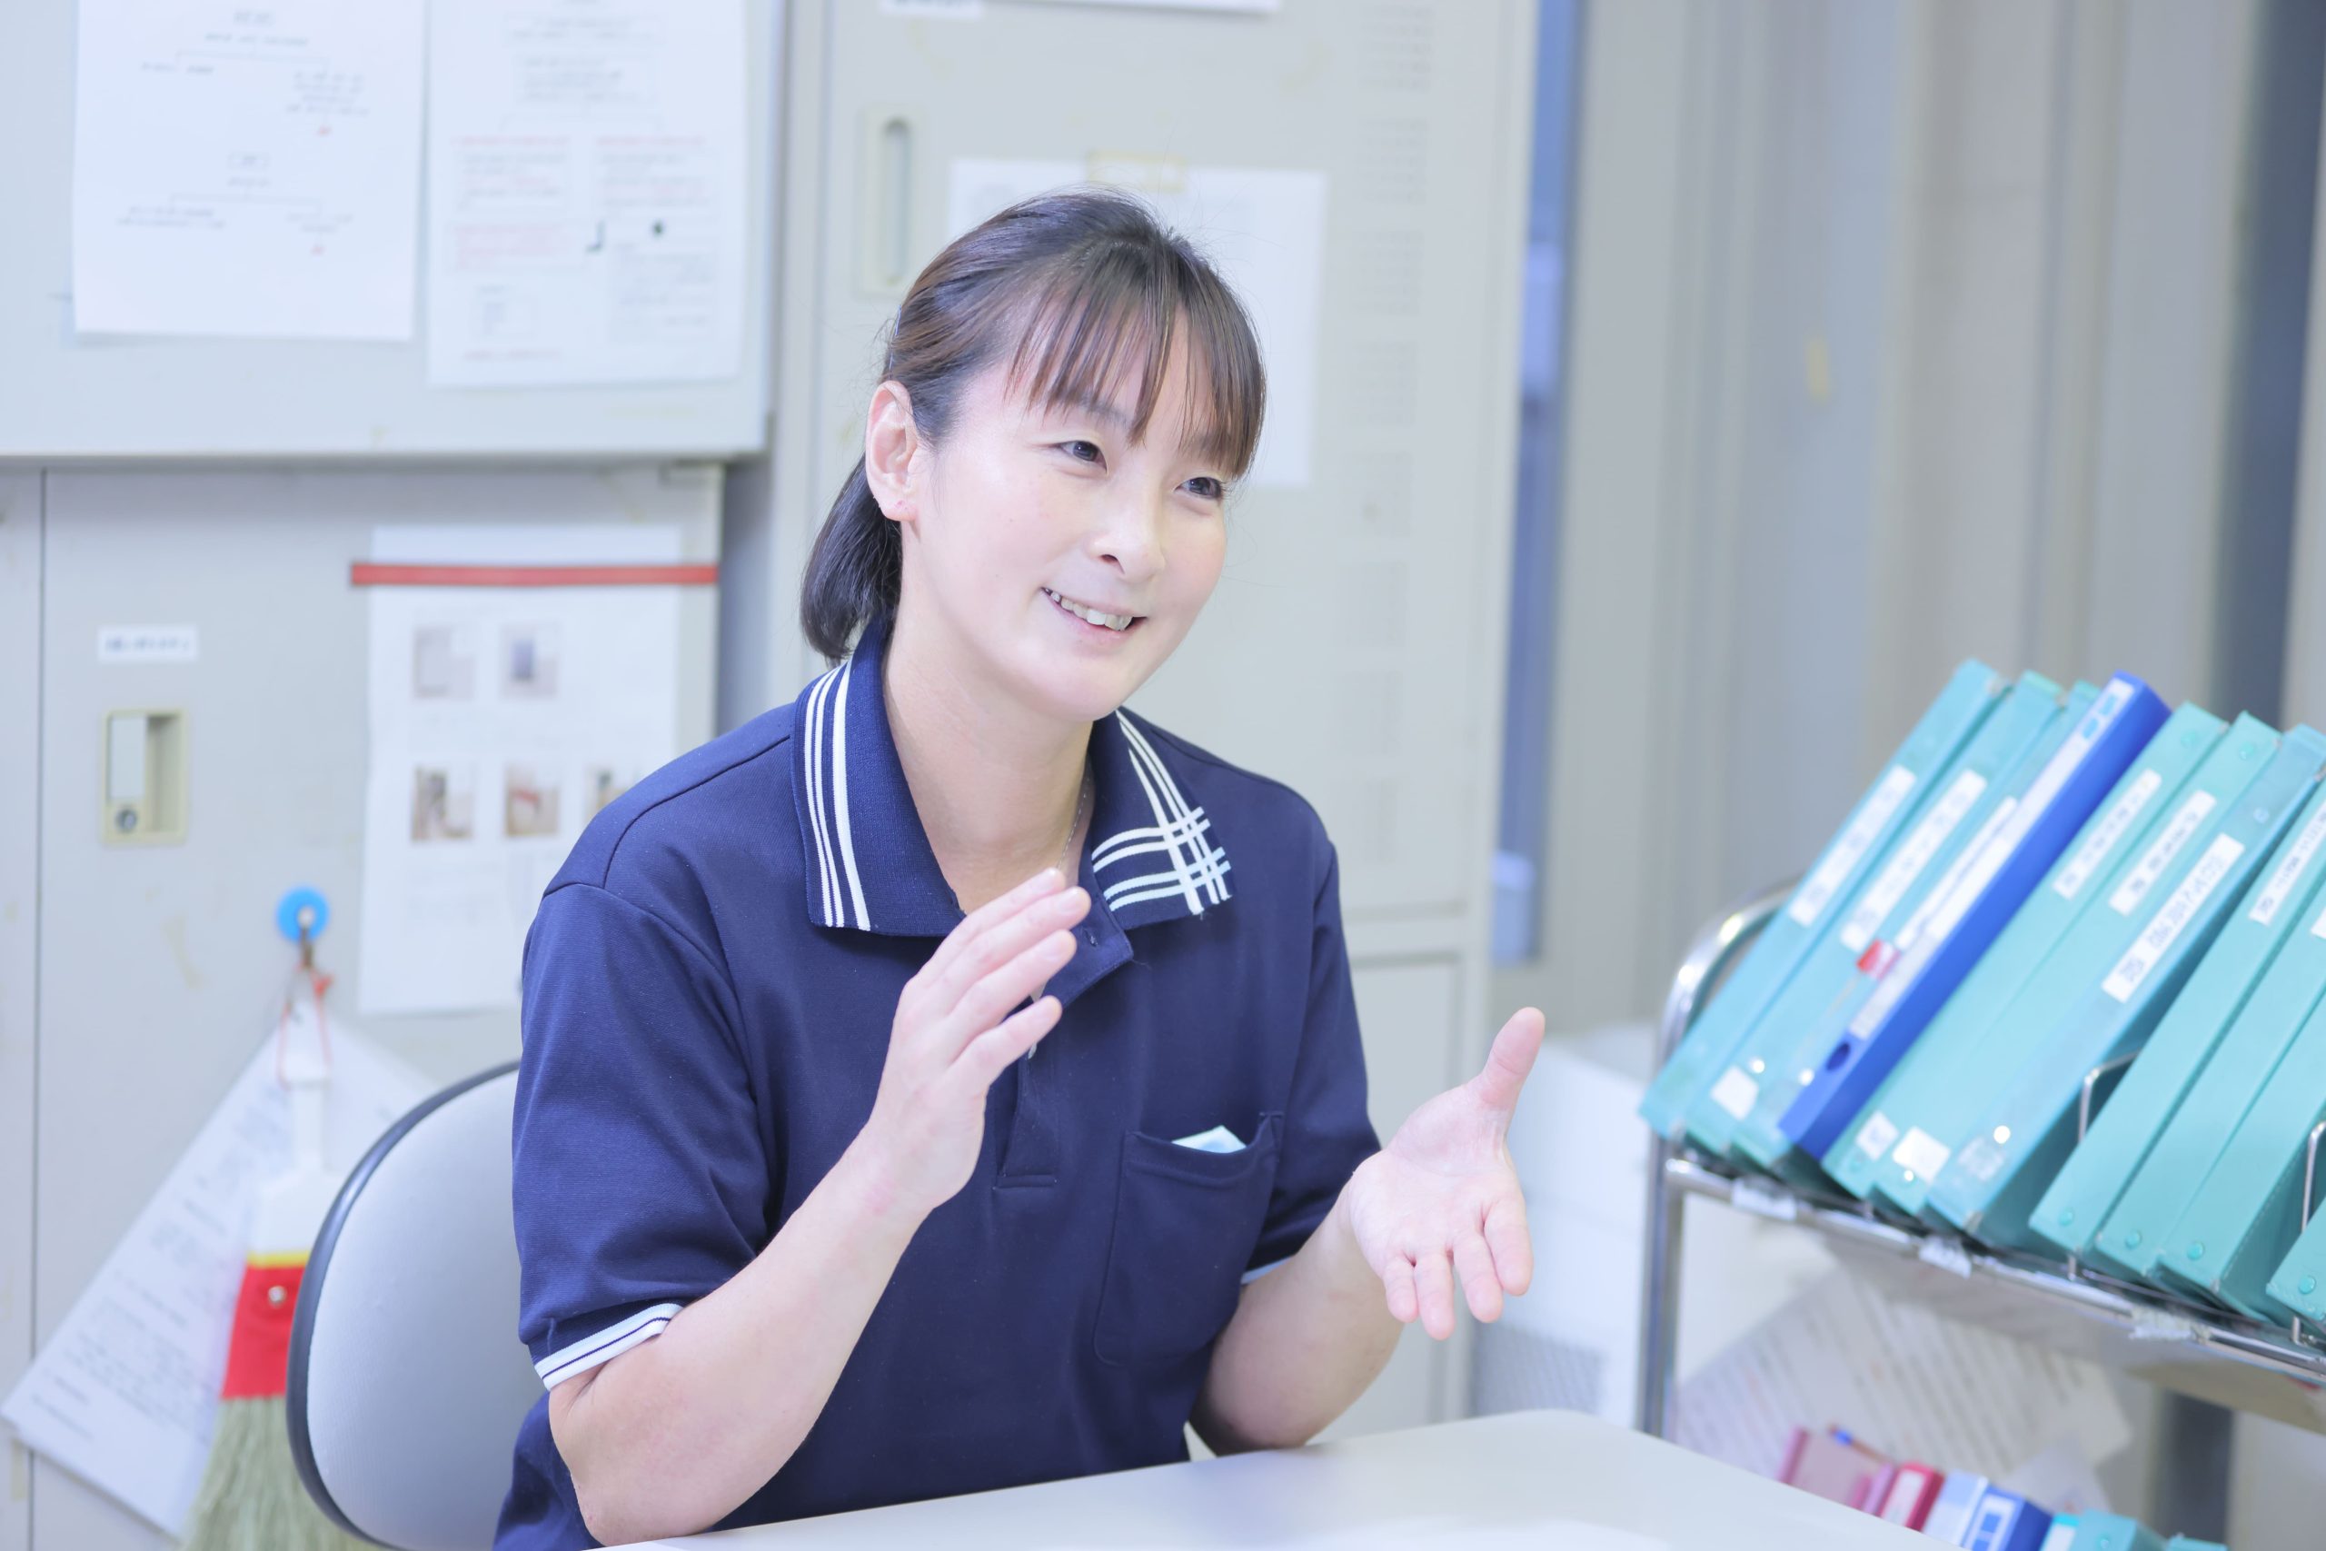
[[[1121,712],[1261,428],[1130,198],[914,281],[805,626],[837,667],[600,814],[526,944],[526,1418],[500,1546],[1296,1444],[1531,1277],[1542,1039],[1377,1151],[1333,849]]]

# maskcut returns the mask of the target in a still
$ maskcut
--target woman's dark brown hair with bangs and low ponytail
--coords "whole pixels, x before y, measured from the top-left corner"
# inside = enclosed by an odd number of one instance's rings
[[[1251,319],[1186,237],[1112,188],[1021,200],[928,260],[898,307],[882,381],[905,388],[930,442],[996,363],[1042,407],[1110,402],[1135,381],[1130,435],[1144,437],[1182,326],[1196,384],[1189,442],[1240,477],[1268,398]],[[863,626],[896,614],[900,570],[902,537],[858,458],[807,556],[807,642],[830,660],[847,656]]]

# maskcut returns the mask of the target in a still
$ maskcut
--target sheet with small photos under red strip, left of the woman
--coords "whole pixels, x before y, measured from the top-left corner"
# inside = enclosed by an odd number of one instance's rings
[[[398,526],[405,565],[668,565],[668,526]],[[677,756],[675,586],[374,586],[361,1000],[514,1007],[582,825]]]

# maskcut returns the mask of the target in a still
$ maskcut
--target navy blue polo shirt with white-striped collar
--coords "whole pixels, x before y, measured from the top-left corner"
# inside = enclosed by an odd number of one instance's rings
[[[547,1386],[751,1263],[872,1114],[961,921],[882,698],[886,639],[591,821],[526,939],[521,1337]],[[1333,846],[1291,788],[1091,728],[1091,914],[1058,1028],[986,1098],[823,1414],[721,1528],[1186,1458],[1237,1286],[1375,1151]],[[1228,1128],[1240,1151],[1182,1146]],[[498,1546],[595,1544],[549,1435]]]

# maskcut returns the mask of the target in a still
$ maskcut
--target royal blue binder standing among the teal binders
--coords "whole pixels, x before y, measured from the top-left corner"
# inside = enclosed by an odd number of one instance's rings
[[[1938,919],[1891,967],[1784,1112],[1779,1130],[1793,1146],[1821,1158],[1840,1139],[2163,723],[2166,705],[2147,684],[2131,674],[2107,681],[2026,798],[1979,846]]]

